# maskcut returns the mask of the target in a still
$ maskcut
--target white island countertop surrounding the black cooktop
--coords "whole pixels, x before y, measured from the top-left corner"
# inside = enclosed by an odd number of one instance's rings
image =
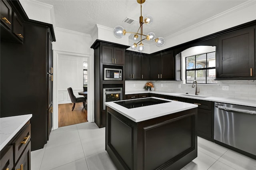
[[[106,102],[105,104],[108,107],[117,111],[118,113],[131,119],[134,122],[146,121],[148,119],[153,119],[156,117],[169,115],[172,113],[177,113],[180,111],[185,111],[188,109],[193,109],[193,108],[198,107],[198,105],[184,103],[184,102],[180,102],[180,101],[172,101],[172,100],[161,99],[161,98],[157,98],[157,97],[152,97],[152,98],[165,100],[165,101],[171,101],[171,102],[150,105],[150,106],[144,106],[144,107],[137,107],[137,108],[132,108],[132,109],[127,109],[126,107],[118,105],[118,104],[114,103],[113,101]],[[146,99],[146,98],[144,98],[144,99]],[[138,99],[132,99],[132,100],[138,100]]]

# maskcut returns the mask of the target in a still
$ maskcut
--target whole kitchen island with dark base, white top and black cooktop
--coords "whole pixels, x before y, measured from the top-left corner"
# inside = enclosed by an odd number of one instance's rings
[[[105,104],[106,151],[118,170],[176,170],[197,157],[197,105],[156,97]]]

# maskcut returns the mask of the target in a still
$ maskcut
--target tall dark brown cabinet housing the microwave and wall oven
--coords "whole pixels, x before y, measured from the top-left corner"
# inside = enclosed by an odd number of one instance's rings
[[[128,46],[96,40],[91,48],[94,49],[94,122],[102,128],[106,125],[106,112],[103,108],[106,94],[103,93],[103,89],[122,87],[124,96],[124,78],[122,80],[103,80],[104,68],[122,69],[124,76],[124,55]]]

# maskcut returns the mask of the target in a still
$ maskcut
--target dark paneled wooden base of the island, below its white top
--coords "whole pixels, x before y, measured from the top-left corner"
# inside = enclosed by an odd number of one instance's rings
[[[118,170],[178,170],[197,157],[197,108],[134,122],[106,110],[106,151]]]

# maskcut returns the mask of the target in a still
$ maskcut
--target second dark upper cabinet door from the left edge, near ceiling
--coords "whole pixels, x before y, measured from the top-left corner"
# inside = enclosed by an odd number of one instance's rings
[[[24,26],[18,15],[13,13],[13,24],[12,24],[12,32],[23,42],[24,39]]]

